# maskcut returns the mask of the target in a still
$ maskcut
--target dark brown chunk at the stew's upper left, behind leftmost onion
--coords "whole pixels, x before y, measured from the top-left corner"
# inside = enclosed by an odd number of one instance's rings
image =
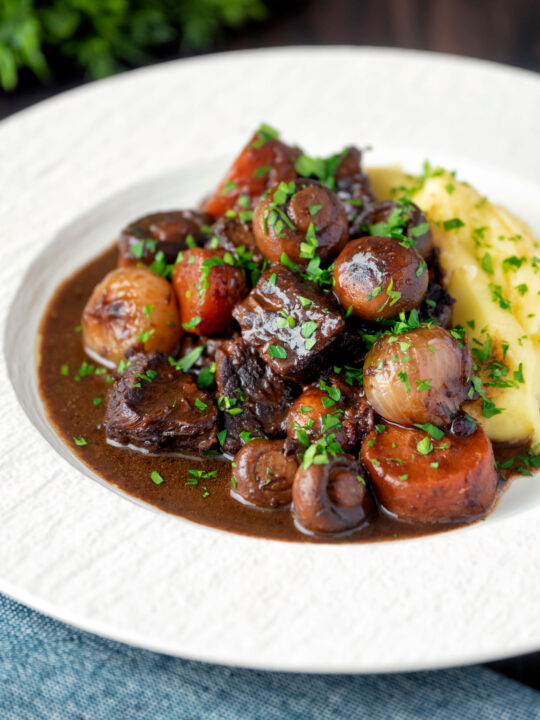
[[[170,210],[145,215],[125,227],[118,239],[118,264],[150,265],[158,252],[167,263],[190,245],[202,245],[212,217],[197,210]]]

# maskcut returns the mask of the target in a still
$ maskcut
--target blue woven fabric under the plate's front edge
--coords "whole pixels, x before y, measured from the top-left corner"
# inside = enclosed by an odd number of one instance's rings
[[[540,694],[479,667],[302,675],[179,660],[0,595],[2,720],[535,720]]]

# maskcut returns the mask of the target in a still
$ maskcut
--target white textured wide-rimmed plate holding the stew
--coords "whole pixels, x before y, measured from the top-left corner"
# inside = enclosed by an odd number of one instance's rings
[[[538,649],[539,477],[486,522],[418,540],[226,534],[90,479],[48,426],[33,367],[57,282],[132,217],[195,202],[261,120],[312,153],[354,142],[374,146],[371,164],[458,168],[540,232],[538,117],[532,74],[342,47],[160,65],[2,123],[0,589],[96,633],[258,668],[408,670]]]

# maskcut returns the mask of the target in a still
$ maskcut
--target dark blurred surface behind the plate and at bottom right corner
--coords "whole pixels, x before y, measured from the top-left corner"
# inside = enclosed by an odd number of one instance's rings
[[[208,51],[379,45],[455,53],[540,72],[540,0],[274,0],[268,5],[266,21],[228,33]],[[79,84],[69,67],[46,86],[23,74],[16,91],[0,90],[0,118]],[[487,667],[540,689],[540,652]]]

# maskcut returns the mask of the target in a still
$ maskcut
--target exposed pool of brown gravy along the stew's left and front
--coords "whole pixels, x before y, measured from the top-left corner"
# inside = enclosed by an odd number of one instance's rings
[[[75,381],[83,361],[92,363],[77,332],[94,286],[116,267],[111,248],[78,270],[56,291],[43,317],[39,337],[39,389],[49,420],[64,442],[98,475],[124,492],[188,520],[256,537],[297,542],[367,542],[411,538],[459,527],[411,525],[379,512],[366,527],[345,537],[317,538],[300,532],[289,510],[264,511],[230,497],[230,462],[221,457],[152,456],[107,443],[100,427],[105,413],[107,376],[89,374]],[[61,368],[68,366],[68,374]],[[65,372],[65,369],[64,369]],[[94,398],[101,398],[94,404]],[[96,401],[97,402],[97,401]],[[73,438],[84,437],[78,447]],[[515,449],[514,449],[515,452]],[[189,469],[217,470],[217,477],[186,484]],[[157,470],[165,482],[156,485]]]

